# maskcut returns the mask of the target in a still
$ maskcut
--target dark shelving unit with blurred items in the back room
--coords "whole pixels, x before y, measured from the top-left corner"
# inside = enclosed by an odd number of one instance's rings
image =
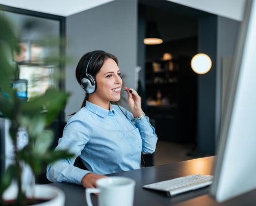
[[[146,62],[147,115],[154,119],[159,139],[192,142],[197,131],[194,119],[197,118],[198,76],[191,71],[190,57],[178,57],[169,62]],[[170,132],[172,135],[165,138]]]

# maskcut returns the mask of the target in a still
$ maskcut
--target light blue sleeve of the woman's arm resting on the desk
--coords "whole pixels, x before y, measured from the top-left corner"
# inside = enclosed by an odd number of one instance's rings
[[[82,178],[91,171],[80,169],[73,164],[76,158],[81,155],[81,151],[88,140],[88,130],[82,121],[68,123],[55,150],[68,150],[74,154],[74,157],[49,164],[47,166],[47,178],[52,182],[70,182],[81,185]]]

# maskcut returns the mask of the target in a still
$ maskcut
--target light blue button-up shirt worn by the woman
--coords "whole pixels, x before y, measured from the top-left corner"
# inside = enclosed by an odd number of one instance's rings
[[[133,115],[115,105],[110,110],[86,101],[86,106],[74,114],[64,128],[57,149],[68,149],[75,157],[62,159],[47,167],[52,182],[81,185],[88,173],[106,175],[140,168],[141,151],[153,153],[157,135],[149,118],[133,121]],[[88,170],[73,166],[80,156]]]

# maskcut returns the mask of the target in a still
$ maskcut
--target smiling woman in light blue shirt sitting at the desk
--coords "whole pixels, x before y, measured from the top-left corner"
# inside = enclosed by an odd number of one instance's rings
[[[157,135],[141,109],[140,96],[133,89],[125,87],[131,113],[110,104],[121,98],[117,58],[103,51],[85,54],[76,69],[79,83],[83,81],[86,61],[86,73],[95,78],[97,87],[85,95],[81,110],[69,119],[56,147],[68,149],[75,157],[48,165],[47,178],[87,188],[97,187],[96,180],[106,177],[104,174],[140,168],[141,151],[153,153]],[[82,87],[86,90],[86,86]],[[79,156],[88,170],[73,166]]]

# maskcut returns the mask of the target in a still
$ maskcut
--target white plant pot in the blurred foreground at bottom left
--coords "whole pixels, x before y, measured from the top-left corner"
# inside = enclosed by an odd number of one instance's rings
[[[17,197],[18,190],[16,186],[10,186],[4,193],[3,198],[6,201],[13,200]],[[35,186],[35,199],[49,200],[46,202],[33,204],[33,206],[64,206],[65,194],[57,187],[43,184]]]

